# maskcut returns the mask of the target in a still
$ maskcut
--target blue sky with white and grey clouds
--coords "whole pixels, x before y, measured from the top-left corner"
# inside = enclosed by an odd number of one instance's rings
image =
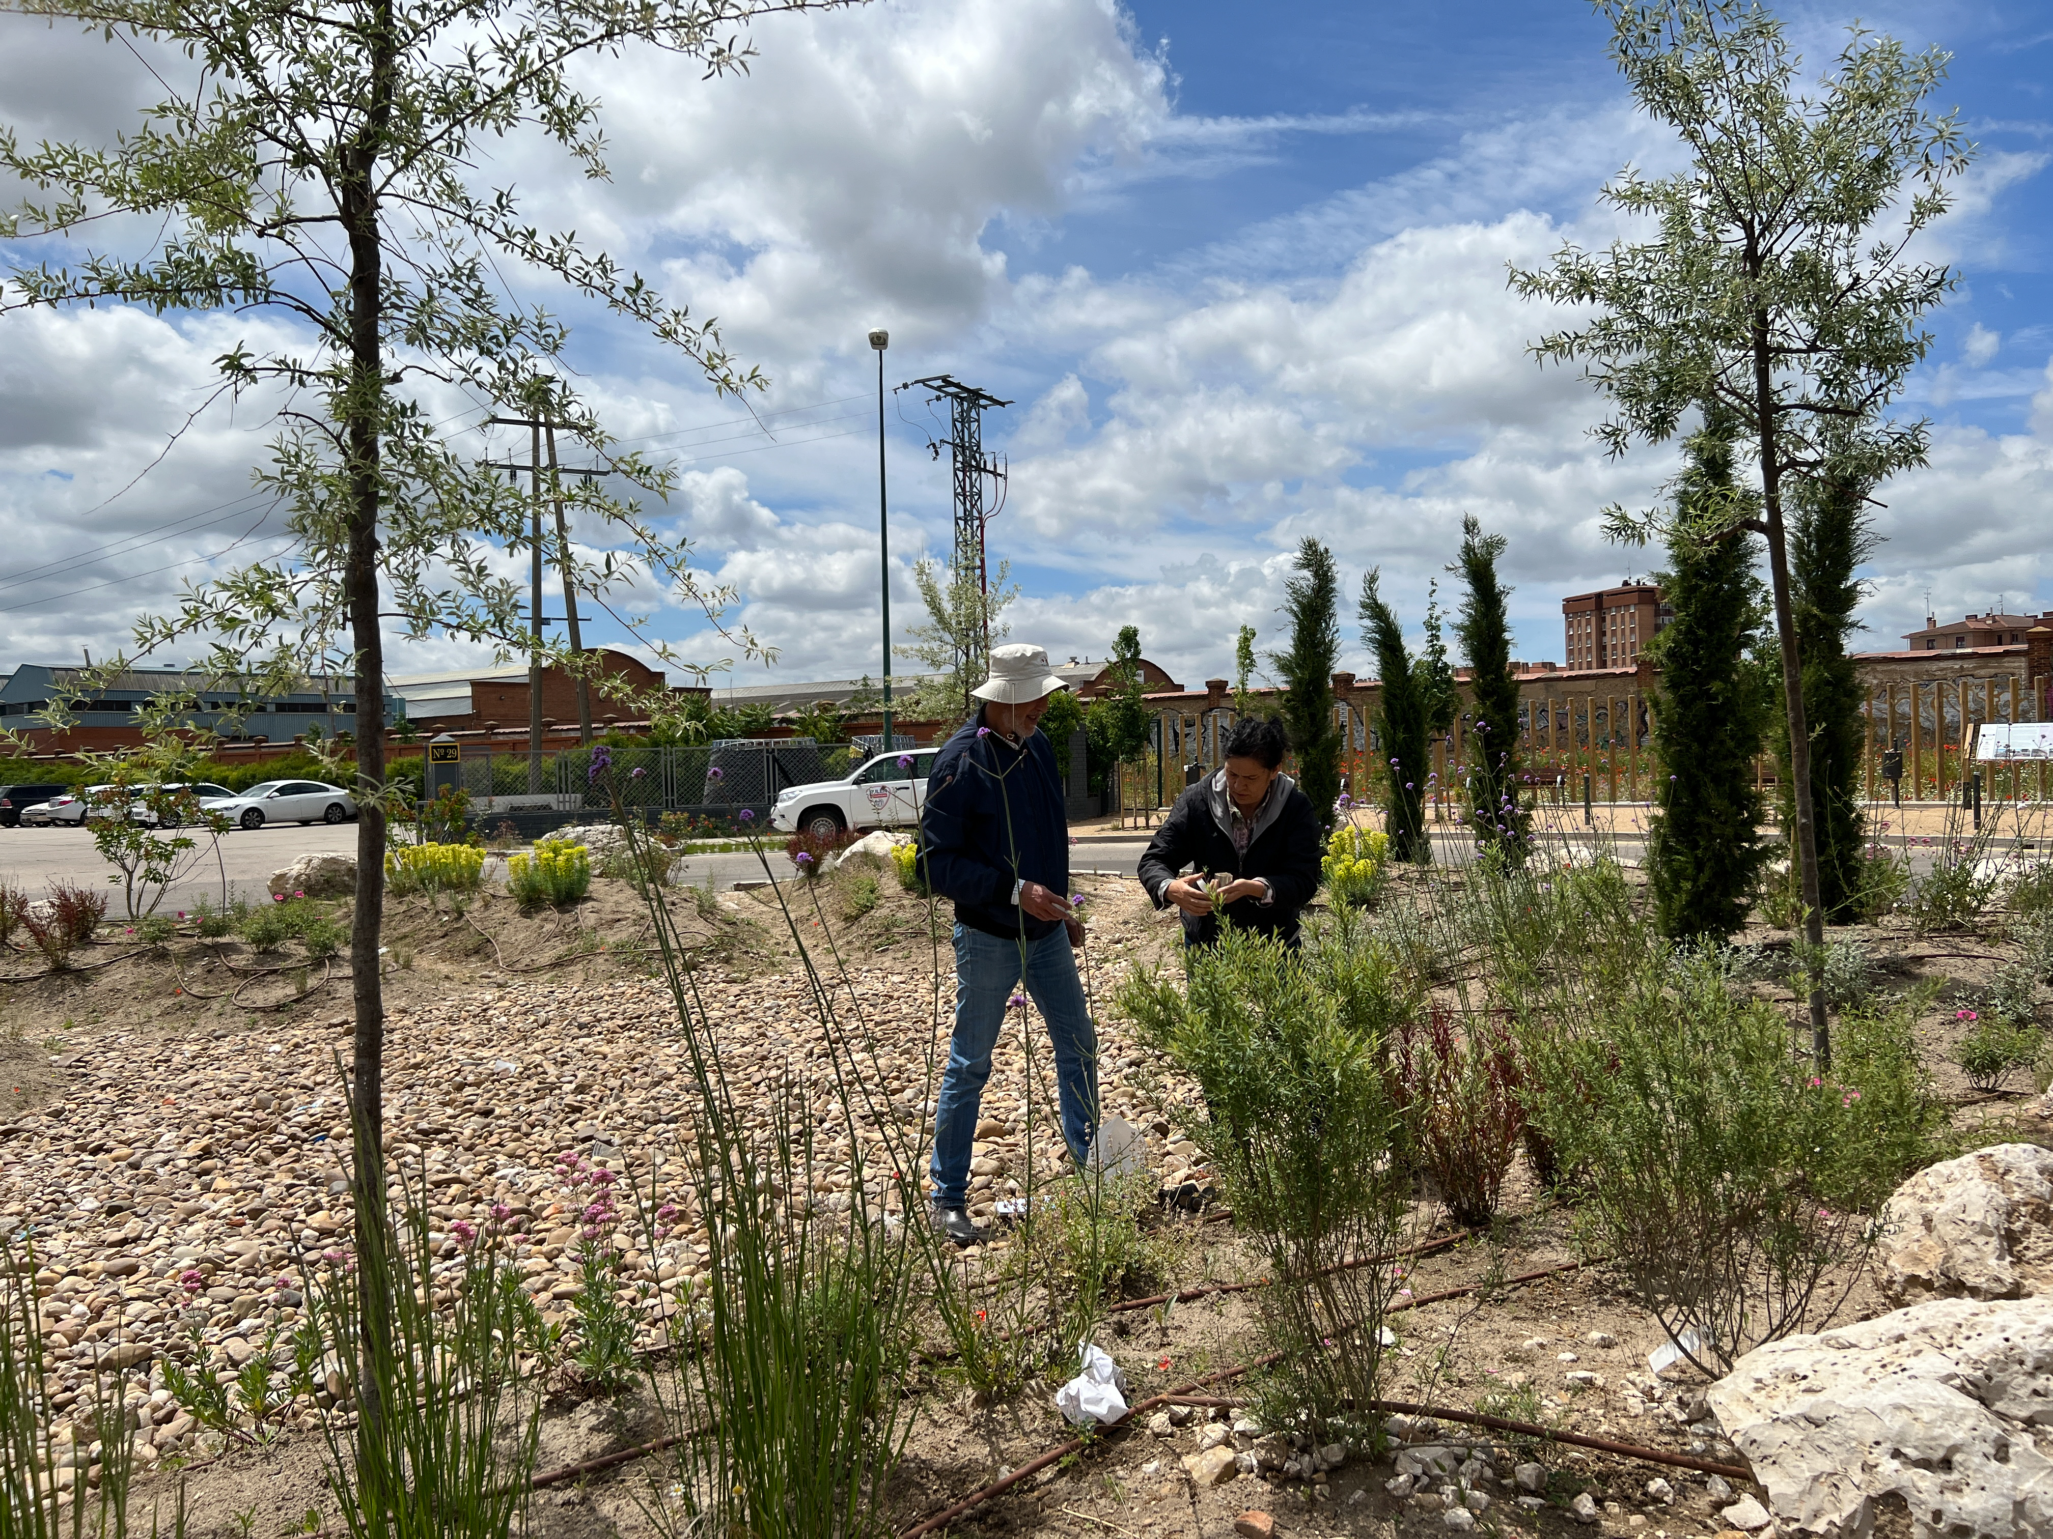
[[[1780,10],[1811,62],[1856,14]],[[1934,421],[1932,466],[1881,492],[1866,607],[1866,644],[1881,646],[1920,622],[1928,589],[1944,616],[2000,597],[2053,607],[2039,556],[2053,492],[2053,6],[1860,16],[1954,53],[1940,101],[1981,144],[1932,242],[1961,289],[1905,402]],[[0,117],[105,133],[142,98],[101,43],[0,27]],[[784,425],[774,441],[721,427],[733,404],[677,359],[567,306],[614,429],[684,456],[661,511],[737,587],[735,618],[780,648],[778,677],[879,667],[873,324],[893,332],[893,384],[953,371],[1016,400],[987,419],[1012,468],[992,552],[1024,589],[1014,638],[1057,655],[1100,657],[1133,622],[1187,683],[1224,673],[1240,624],[1277,642],[1306,534],[1332,544],[1349,589],[1382,566],[1417,620],[1474,511],[1511,540],[1532,659],[1560,657],[1564,593],[1651,564],[1603,544],[1597,509],[1653,497],[1667,451],[1601,460],[1583,435],[1597,400],[1521,351],[1558,318],[1503,285],[1507,263],[1562,238],[1605,240],[1597,185],[1626,160],[1671,156],[1634,119],[1587,4],[891,0],[764,25],[756,41],[747,80],[700,84],[632,57],[599,76],[612,185],[521,144],[485,174],[719,314],[772,376],[760,406],[786,412],[768,419]],[[14,326],[0,347],[0,525],[16,552],[0,562],[4,653],[109,648],[242,531],[228,521],[80,560],[246,492],[263,439],[211,423],[135,492],[84,513],[183,419],[232,324],[0,324]],[[899,402],[903,634],[909,562],[944,554],[948,521],[924,408]],[[88,583],[105,587],[78,593]],[[647,591],[624,607],[653,609],[653,632],[690,657],[729,650],[688,607]],[[1365,667],[1347,636],[1345,665]],[[396,669],[466,657],[435,640],[402,648]],[[749,673],[760,665],[737,677]]]

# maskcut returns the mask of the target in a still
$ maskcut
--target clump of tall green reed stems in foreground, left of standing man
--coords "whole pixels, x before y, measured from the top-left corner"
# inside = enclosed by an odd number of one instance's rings
[[[647,837],[622,823],[630,841]],[[899,1108],[885,1102],[846,969],[834,981],[821,975],[784,884],[774,891],[799,944],[825,1073],[815,1081],[795,1067],[758,1086],[760,1100],[747,1104],[727,1073],[719,1022],[686,964],[675,917],[655,884],[647,889],[696,1100],[686,1145],[692,1190],[677,1219],[702,1221],[708,1264],[704,1287],[671,1319],[675,1373],[649,1375],[680,1443],[645,1506],[673,1535],[860,1539],[887,1527],[885,1486],[912,1426],[901,1379],[914,1235],[924,1227],[912,1221],[905,1153],[916,1153],[918,1133],[903,1139]],[[825,1114],[815,1110],[821,1092]],[[846,1213],[813,1194],[821,1131],[848,1147]],[[873,1131],[885,1133],[875,1151]]]

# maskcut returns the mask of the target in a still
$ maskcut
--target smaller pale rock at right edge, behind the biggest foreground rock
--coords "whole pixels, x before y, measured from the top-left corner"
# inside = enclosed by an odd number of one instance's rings
[[[1920,1170],[1883,1223],[1893,1303],[2053,1293],[2053,1151],[1998,1143]]]

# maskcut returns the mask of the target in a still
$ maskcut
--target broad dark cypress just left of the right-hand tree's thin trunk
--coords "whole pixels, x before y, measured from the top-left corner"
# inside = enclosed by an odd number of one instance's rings
[[[1661,669],[1655,753],[1667,770],[1647,837],[1647,876],[1663,936],[1725,940],[1747,921],[1768,845],[1753,755],[1768,698],[1747,667],[1764,622],[1753,536],[1722,527],[1733,486],[1733,445],[1714,429],[1690,439],[1677,490],[1663,593],[1675,618],[1647,648]]]

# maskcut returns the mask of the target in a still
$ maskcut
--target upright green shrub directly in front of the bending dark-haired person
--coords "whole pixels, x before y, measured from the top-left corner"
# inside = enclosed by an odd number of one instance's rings
[[[1382,946],[1363,952],[1365,966],[1392,966]],[[1402,1118],[1384,1073],[1392,1022],[1349,1020],[1328,983],[1334,966],[1228,928],[1189,954],[1189,991],[1162,973],[1131,973],[1119,991],[1144,1040],[1203,1092],[1205,1116],[1191,1133],[1269,1262],[1263,1315],[1297,1404],[1326,1422],[1376,1397],[1396,1287],[1390,1268],[1337,1262],[1390,1248],[1406,1186],[1392,1159]],[[1349,977],[1365,1014],[1376,989],[1353,969]],[[1382,997],[1394,999],[1394,987]]]

